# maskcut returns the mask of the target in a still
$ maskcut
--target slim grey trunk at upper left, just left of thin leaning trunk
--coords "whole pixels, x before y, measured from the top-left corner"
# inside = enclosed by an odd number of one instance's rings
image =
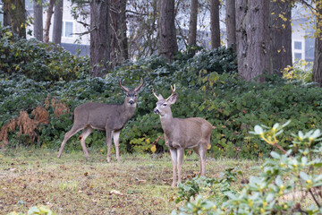
[[[42,0],[33,0],[34,10],[34,37],[43,41],[43,4]]]

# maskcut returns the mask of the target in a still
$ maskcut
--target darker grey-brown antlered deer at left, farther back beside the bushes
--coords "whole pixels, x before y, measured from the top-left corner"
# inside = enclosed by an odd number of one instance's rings
[[[140,86],[131,90],[122,85],[122,80],[119,81],[119,85],[125,93],[125,99],[123,104],[104,104],[97,102],[84,103],[74,110],[74,120],[72,129],[65,133],[64,141],[58,152],[58,158],[61,158],[62,152],[66,142],[80,130],[83,130],[80,134],[79,140],[81,148],[85,154],[86,159],[89,160],[89,152],[86,149],[85,140],[94,129],[106,131],[106,143],[107,143],[107,162],[111,162],[111,147],[112,147],[112,135],[114,138],[114,146],[116,159],[120,162],[119,154],[119,137],[120,132],[124,125],[134,115],[137,107],[138,93],[143,86],[143,79],[140,80]]]

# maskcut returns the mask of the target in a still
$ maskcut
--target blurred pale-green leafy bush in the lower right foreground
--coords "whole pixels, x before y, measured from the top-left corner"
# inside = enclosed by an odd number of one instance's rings
[[[265,160],[258,176],[239,179],[242,186],[237,188],[232,185],[238,181],[238,172],[232,169],[219,179],[193,178],[179,186],[176,202],[185,205],[172,214],[321,214],[321,133],[317,129],[293,134],[290,145],[299,152],[292,156],[292,150],[278,145],[277,136],[284,126],[255,126],[255,135],[281,150],[281,154],[270,153],[271,159]],[[207,196],[203,197],[200,190],[204,187],[211,192],[204,192]]]

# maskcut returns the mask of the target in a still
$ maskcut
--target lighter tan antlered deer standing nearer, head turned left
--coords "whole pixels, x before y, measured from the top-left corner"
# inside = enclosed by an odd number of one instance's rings
[[[185,149],[193,149],[200,157],[200,175],[205,176],[206,153],[213,126],[207,120],[200,117],[174,118],[171,106],[178,98],[178,93],[173,91],[168,99],[161,94],[157,96],[154,90],[153,95],[157,98],[157,107],[154,112],[160,116],[161,125],[165,133],[165,144],[170,149],[173,164],[173,184],[176,185],[176,169],[178,169],[178,184],[182,182],[181,170],[183,152]]]

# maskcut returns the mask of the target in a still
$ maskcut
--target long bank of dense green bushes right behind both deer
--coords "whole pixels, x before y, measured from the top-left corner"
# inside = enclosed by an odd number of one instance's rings
[[[10,44],[14,36],[5,30],[2,33],[4,36],[8,34],[5,36],[7,42],[4,42],[4,38],[0,41]],[[3,43],[0,42],[0,48],[3,48]],[[4,47],[11,46],[8,44]],[[30,40],[25,41],[25,44],[21,42],[22,47],[27,46],[26,44],[32,47]],[[244,82],[236,73],[235,54],[229,48],[201,51],[193,58],[179,55],[172,64],[167,64],[160,56],[151,56],[117,67],[104,79],[87,76],[83,71],[88,70],[88,64],[79,57],[66,54],[65,58],[62,57],[64,62],[70,60],[74,63],[66,63],[64,72],[67,71],[66,68],[76,66],[74,74],[81,73],[81,77],[73,81],[53,78],[50,82],[39,82],[42,80],[39,77],[46,76],[41,75],[42,73],[52,73],[47,66],[50,62],[55,62],[54,54],[48,54],[47,60],[40,60],[41,64],[34,63],[35,66],[45,66],[41,73],[33,69],[34,75],[29,75],[25,72],[28,69],[21,69],[12,74],[8,71],[13,70],[13,65],[16,64],[13,57],[16,54],[13,52],[18,47],[17,45],[11,51],[8,49],[11,58],[6,60],[12,63],[1,67],[5,73],[0,76],[0,126],[7,125],[12,118],[19,117],[21,110],[27,111],[30,118],[34,119],[33,110],[38,106],[44,107],[47,98],[63,102],[71,112],[65,111],[64,115],[56,116],[55,107],[48,107],[48,123],[37,125],[38,136],[35,142],[26,142],[24,134],[17,134],[18,128],[13,131],[8,128],[8,140],[11,145],[36,144],[58,149],[64,139],[64,133],[72,127],[72,111],[75,107],[86,101],[122,103],[124,95],[118,81],[123,79],[123,85],[135,87],[140,84],[140,77],[143,77],[145,85],[140,91],[136,114],[121,133],[123,151],[150,152],[152,145],[157,147],[157,152],[166,149],[164,140],[159,138],[163,136],[159,118],[153,114],[156,99],[152,96],[152,89],[167,97],[171,92],[170,84],[174,83],[179,93],[179,98],[172,107],[174,116],[200,116],[216,126],[210,150],[214,157],[267,156],[272,150],[271,146],[258,140],[254,140],[255,144],[250,142],[249,131],[254,125],[272,125],[272,122],[284,123],[292,119],[289,126],[291,130],[309,131],[321,126],[320,88],[314,84],[286,82],[275,76],[267,76],[268,82],[263,84]],[[32,52],[37,52],[38,48],[32,47],[31,50],[35,49]],[[47,49],[42,51],[47,53]],[[36,59],[43,56],[34,57]],[[83,63],[85,66],[81,65]],[[280,144],[286,147],[290,137],[291,133],[285,131],[280,138]],[[92,148],[105,149],[105,133],[94,132],[89,135],[87,144]],[[81,149],[76,136],[69,141],[67,149]]]

